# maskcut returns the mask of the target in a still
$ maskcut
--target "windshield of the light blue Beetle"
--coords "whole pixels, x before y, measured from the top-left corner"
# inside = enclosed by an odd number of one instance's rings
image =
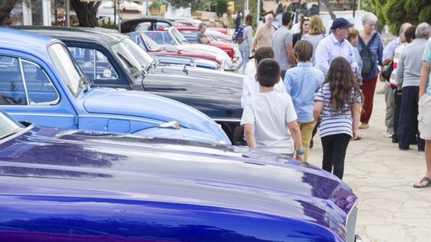
[[[80,84],[81,80],[84,78],[84,74],[73,60],[68,49],[60,43],[51,44],[48,47],[48,54],[69,90],[74,96],[77,96],[79,91],[84,88],[83,85]]]

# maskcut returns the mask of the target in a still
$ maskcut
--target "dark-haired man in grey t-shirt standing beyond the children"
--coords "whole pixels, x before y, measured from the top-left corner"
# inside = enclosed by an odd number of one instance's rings
[[[295,57],[292,50],[293,35],[289,30],[294,17],[293,12],[286,12],[282,17],[282,26],[275,31],[272,37],[272,48],[274,48],[274,59],[281,68],[281,78],[284,80],[287,69],[295,66]]]

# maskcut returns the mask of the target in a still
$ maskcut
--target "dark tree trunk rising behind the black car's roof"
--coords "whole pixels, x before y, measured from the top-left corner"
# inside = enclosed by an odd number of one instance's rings
[[[72,8],[78,17],[79,26],[96,27],[98,25],[96,14],[100,3],[100,1],[87,3],[80,0],[71,0]]]

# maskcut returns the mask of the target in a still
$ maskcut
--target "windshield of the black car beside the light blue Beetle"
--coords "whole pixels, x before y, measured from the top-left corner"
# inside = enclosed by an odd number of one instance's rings
[[[120,59],[120,63],[131,74],[135,75],[148,66],[154,59],[130,38],[124,38],[119,43],[111,45],[112,50]]]

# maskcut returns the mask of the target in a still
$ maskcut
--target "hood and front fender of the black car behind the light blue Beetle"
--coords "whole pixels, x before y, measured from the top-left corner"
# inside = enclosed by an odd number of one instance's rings
[[[186,69],[185,72],[179,66],[158,66],[145,77],[144,87],[154,94],[190,105],[213,119],[241,119],[243,75],[203,68]],[[168,83],[175,83],[175,87],[169,88]],[[153,85],[159,88],[153,89]]]

